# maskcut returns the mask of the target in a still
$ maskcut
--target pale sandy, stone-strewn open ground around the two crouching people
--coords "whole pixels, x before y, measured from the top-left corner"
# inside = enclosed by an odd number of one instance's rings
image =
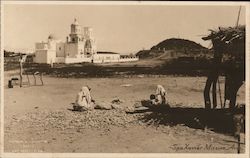
[[[148,99],[161,84],[170,106],[203,107],[205,77],[52,78],[44,86],[4,87],[4,151],[45,153],[236,153],[230,133],[159,124],[150,112],[126,110]],[[122,102],[117,109],[73,112],[70,103],[83,85],[98,102]],[[223,86],[221,86],[223,89]],[[244,86],[237,102],[244,102]],[[218,98],[219,99],[219,98]],[[182,116],[180,116],[182,117]],[[245,150],[244,134],[241,152]]]

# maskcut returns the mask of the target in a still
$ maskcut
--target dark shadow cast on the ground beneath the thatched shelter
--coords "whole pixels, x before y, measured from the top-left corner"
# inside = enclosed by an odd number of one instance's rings
[[[145,123],[154,122],[156,125],[175,126],[182,124],[190,128],[210,129],[224,134],[235,132],[235,118],[242,117],[241,131],[245,132],[245,108],[237,109],[205,109],[170,107],[166,105],[148,106],[142,101],[147,109],[135,110],[134,113],[144,113],[140,121]]]

